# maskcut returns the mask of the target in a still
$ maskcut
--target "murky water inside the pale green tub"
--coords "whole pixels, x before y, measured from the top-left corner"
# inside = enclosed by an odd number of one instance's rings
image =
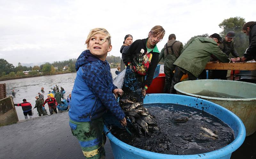
[[[220,92],[213,92],[210,90],[202,90],[198,93],[193,93],[194,95],[201,95],[201,96],[207,96],[207,97],[216,97],[216,98],[235,98],[235,99],[245,99],[244,97],[235,96],[235,95],[228,95],[225,93]]]

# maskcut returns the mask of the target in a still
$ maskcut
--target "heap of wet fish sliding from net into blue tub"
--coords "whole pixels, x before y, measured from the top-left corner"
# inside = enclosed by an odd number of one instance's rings
[[[119,102],[125,115],[129,117],[133,128],[139,135],[151,136],[152,133],[158,133],[159,128],[154,118],[143,107],[142,102],[132,102],[129,99],[121,99]]]

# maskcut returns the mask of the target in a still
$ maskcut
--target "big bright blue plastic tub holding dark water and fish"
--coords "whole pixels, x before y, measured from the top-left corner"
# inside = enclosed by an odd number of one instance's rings
[[[203,104],[200,104],[201,102]],[[199,107],[197,109],[202,110],[204,108],[204,111],[220,118],[222,121],[227,123],[234,130],[235,140],[223,148],[204,154],[166,155],[130,146],[113,136],[104,125],[104,132],[110,140],[115,159],[229,159],[232,152],[239,148],[244,142],[245,127],[243,122],[234,113],[218,104],[195,97],[172,94],[148,94],[144,99],[144,104],[150,103],[177,103],[187,106],[190,104],[191,107],[196,106],[196,104],[204,105],[204,107]]]

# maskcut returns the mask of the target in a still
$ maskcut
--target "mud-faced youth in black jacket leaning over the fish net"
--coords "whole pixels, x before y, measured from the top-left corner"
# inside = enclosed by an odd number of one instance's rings
[[[131,69],[132,72],[135,72],[136,78],[142,88],[142,96],[144,97],[153,80],[154,72],[158,64],[160,52],[156,44],[163,39],[164,34],[165,30],[162,26],[154,26],[149,31],[146,39],[136,40],[122,53],[124,64],[128,66],[127,69]],[[127,69],[126,72],[128,71]],[[130,71],[127,73],[129,72]],[[146,75],[147,78],[145,80]]]

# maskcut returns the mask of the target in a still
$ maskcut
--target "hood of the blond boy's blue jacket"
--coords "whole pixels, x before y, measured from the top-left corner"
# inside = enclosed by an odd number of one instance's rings
[[[78,71],[79,67],[81,67],[82,65],[87,64],[89,62],[93,62],[93,61],[101,61],[101,60],[98,57],[92,55],[90,50],[84,50],[76,60],[76,71]],[[106,63],[106,60],[101,62]]]

